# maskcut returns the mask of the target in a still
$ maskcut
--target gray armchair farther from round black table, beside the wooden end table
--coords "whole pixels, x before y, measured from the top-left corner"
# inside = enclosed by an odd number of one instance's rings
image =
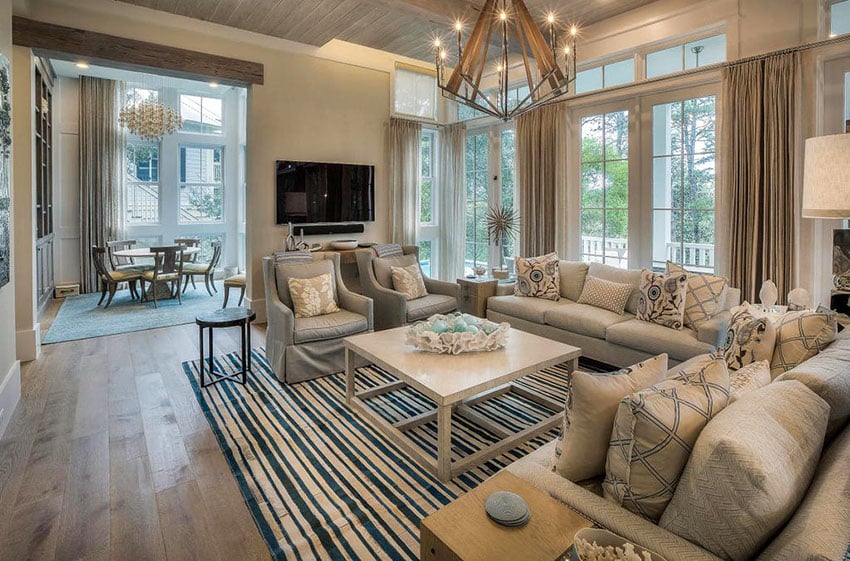
[[[456,283],[426,277],[428,296],[407,300],[401,292],[393,290],[392,267],[419,264],[419,248],[402,247],[404,255],[378,257],[372,249],[356,252],[357,269],[363,293],[375,301],[375,329],[391,329],[425,319],[434,314],[447,314],[458,308],[460,288]],[[421,269],[420,269],[421,271]]]

